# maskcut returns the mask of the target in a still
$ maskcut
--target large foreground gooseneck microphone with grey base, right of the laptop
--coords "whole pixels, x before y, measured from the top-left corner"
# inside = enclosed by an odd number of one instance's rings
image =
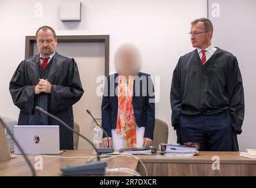
[[[70,126],[67,125],[67,123],[63,122],[63,120],[59,119],[58,117],[52,115],[51,113],[47,112],[46,110],[40,108],[39,106],[35,107],[35,110],[37,110],[40,113],[44,113],[47,116],[52,117],[53,119],[60,122],[62,125],[67,127],[72,133],[74,132],[76,135],[83,137],[84,140],[86,140],[88,143],[90,143],[91,146],[93,146],[94,150],[97,153],[97,162],[90,162],[86,164],[76,164],[74,166],[63,166],[61,167],[61,171],[65,176],[74,176],[74,175],[103,175],[105,173],[105,168],[107,166],[107,163],[105,161],[100,160],[100,155],[97,150],[97,148],[94,146],[94,144],[87,139],[85,136],[81,135],[80,133],[76,132],[74,129],[72,129]]]

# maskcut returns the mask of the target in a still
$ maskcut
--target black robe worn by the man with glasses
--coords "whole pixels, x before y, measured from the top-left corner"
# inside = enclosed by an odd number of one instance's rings
[[[233,129],[240,134],[244,120],[244,89],[237,58],[220,48],[205,65],[197,49],[180,57],[173,71],[170,103],[174,129],[179,126],[181,114],[227,112]]]

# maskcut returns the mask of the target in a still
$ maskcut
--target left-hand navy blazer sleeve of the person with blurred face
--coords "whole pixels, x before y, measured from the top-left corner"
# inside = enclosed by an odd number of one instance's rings
[[[107,136],[112,137],[111,134],[111,108],[110,108],[110,76],[107,76],[106,82],[104,84],[103,98],[101,103],[101,117],[102,117],[102,127],[106,131]],[[103,134],[103,137],[106,137]]]

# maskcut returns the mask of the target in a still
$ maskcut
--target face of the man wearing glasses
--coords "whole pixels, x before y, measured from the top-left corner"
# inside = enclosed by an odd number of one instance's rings
[[[208,48],[211,45],[211,39],[212,32],[205,31],[203,22],[191,26],[191,42],[194,48]]]

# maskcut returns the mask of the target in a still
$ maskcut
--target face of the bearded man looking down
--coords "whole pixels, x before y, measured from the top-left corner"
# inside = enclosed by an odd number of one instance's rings
[[[43,31],[42,29],[37,33],[37,48],[42,57],[48,57],[56,51],[57,38],[54,38],[50,29]]]

